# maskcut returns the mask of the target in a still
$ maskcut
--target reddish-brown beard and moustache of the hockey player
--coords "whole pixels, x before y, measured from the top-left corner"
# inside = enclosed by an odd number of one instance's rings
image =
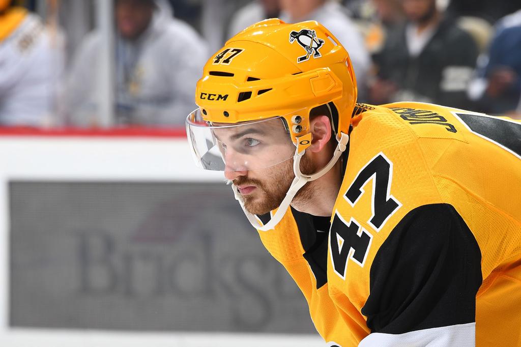
[[[304,155],[300,162],[301,172],[310,175],[316,172],[316,165],[309,157]],[[266,170],[264,179],[251,179],[240,176],[233,180],[235,186],[254,185],[257,187],[255,194],[242,195],[244,207],[248,212],[254,215],[264,215],[278,208],[286,197],[286,193],[291,187],[291,183],[295,178],[293,172],[293,158],[286,160],[280,164],[274,165]],[[313,190],[313,182],[308,182],[302,187],[293,198],[293,201],[299,201],[300,204],[306,203],[311,199]]]

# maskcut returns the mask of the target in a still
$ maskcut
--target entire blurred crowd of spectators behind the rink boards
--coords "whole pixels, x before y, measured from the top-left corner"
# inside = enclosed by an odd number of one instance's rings
[[[358,102],[521,118],[518,1],[0,0],[0,126],[183,126],[209,55],[272,17],[324,24]]]

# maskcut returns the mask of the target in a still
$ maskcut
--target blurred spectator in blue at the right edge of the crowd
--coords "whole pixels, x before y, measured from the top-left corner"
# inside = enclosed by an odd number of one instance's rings
[[[488,54],[478,61],[469,89],[478,108],[491,114],[515,111],[521,96],[521,10],[497,23]]]

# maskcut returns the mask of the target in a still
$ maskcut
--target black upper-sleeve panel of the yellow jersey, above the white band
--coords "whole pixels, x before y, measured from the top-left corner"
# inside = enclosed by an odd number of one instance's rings
[[[476,321],[481,252],[448,204],[409,212],[378,250],[362,308],[371,332],[401,334]]]

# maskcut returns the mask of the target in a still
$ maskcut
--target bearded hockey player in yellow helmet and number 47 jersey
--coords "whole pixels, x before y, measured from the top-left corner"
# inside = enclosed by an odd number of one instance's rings
[[[321,24],[259,22],[204,68],[196,162],[225,172],[328,346],[519,345],[521,123],[356,93]]]

